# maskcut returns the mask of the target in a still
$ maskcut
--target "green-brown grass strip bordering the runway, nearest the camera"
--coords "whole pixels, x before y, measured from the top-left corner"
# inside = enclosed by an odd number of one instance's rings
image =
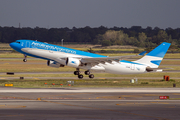
[[[173,84],[176,83],[176,87],[180,87],[180,80],[176,80],[175,82],[171,81],[162,81],[162,80],[138,80],[137,83],[130,83],[130,80],[102,80],[102,79],[91,79],[91,80],[11,80],[11,81],[0,81],[0,86],[4,86],[4,84],[13,84],[14,87],[21,87],[21,88],[53,88],[53,87],[62,87],[60,84],[63,84],[63,87],[68,87],[67,81],[74,81],[74,85],[72,87],[122,87],[122,88],[129,88],[129,87],[140,87],[140,88],[151,88],[151,87],[158,87],[158,88],[165,88],[165,87],[173,87]],[[45,85],[44,83],[47,83]],[[52,85],[55,83],[56,85]],[[148,83],[148,84],[142,84]]]

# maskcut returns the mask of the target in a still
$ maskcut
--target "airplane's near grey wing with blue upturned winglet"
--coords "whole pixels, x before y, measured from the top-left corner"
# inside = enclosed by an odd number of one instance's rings
[[[125,58],[131,58],[131,57],[137,57],[137,56],[143,56],[146,53],[146,51],[138,54],[138,55],[127,55],[127,56],[115,56],[115,57],[101,57],[101,58],[82,58],[82,63],[105,63],[105,62],[112,62],[116,61],[119,62],[122,59]]]

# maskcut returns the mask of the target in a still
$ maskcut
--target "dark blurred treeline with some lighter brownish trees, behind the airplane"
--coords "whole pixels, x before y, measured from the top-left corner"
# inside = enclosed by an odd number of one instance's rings
[[[110,45],[132,45],[137,47],[151,48],[159,45],[161,42],[172,43],[171,48],[180,46],[180,28],[160,29],[158,27],[142,28],[141,26],[132,26],[131,28],[113,27],[107,28],[100,26],[91,28],[15,28],[0,27],[0,42],[10,43],[18,39],[31,39],[49,43],[68,44],[101,44]]]

